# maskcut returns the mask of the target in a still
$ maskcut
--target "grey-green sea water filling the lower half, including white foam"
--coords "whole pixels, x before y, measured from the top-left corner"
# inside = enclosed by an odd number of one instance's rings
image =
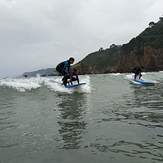
[[[163,72],[0,79],[0,163],[163,162]]]

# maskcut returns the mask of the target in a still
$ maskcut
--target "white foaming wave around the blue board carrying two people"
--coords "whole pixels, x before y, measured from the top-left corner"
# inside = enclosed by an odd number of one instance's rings
[[[0,86],[6,88],[12,88],[19,92],[26,92],[41,88],[43,86],[55,92],[64,92],[64,93],[73,93],[77,92],[85,92],[90,93],[90,78],[89,76],[80,76],[80,81],[87,83],[80,87],[80,89],[67,89],[61,83],[61,77],[36,77],[36,78],[7,78],[0,80]]]

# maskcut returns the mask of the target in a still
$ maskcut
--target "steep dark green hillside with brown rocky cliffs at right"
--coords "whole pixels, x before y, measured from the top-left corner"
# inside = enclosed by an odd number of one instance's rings
[[[135,66],[144,71],[163,70],[163,18],[150,22],[140,35],[123,45],[88,54],[75,65],[81,74],[130,72]]]

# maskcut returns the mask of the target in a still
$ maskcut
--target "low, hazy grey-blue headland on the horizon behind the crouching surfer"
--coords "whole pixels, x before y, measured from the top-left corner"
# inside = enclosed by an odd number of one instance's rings
[[[23,76],[26,77],[36,77],[37,75],[40,75],[42,77],[45,76],[57,76],[58,73],[56,72],[55,68],[47,68],[47,69],[41,69],[33,72],[25,72]]]

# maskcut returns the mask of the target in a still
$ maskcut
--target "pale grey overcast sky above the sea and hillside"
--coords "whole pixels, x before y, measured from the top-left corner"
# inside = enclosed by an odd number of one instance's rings
[[[127,43],[162,15],[163,0],[0,0],[0,76]]]

